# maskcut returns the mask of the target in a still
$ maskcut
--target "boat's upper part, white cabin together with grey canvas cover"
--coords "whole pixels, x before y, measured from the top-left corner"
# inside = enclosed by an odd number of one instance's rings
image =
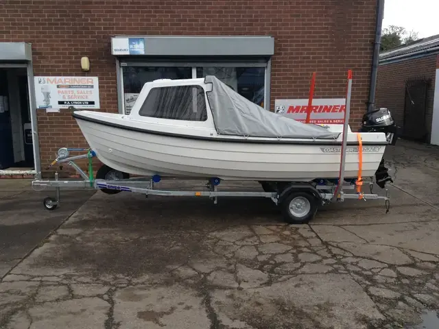
[[[128,115],[156,125],[211,130],[210,136],[336,139],[340,131],[265,110],[213,75],[147,82]],[[342,128],[342,127],[340,127]]]

